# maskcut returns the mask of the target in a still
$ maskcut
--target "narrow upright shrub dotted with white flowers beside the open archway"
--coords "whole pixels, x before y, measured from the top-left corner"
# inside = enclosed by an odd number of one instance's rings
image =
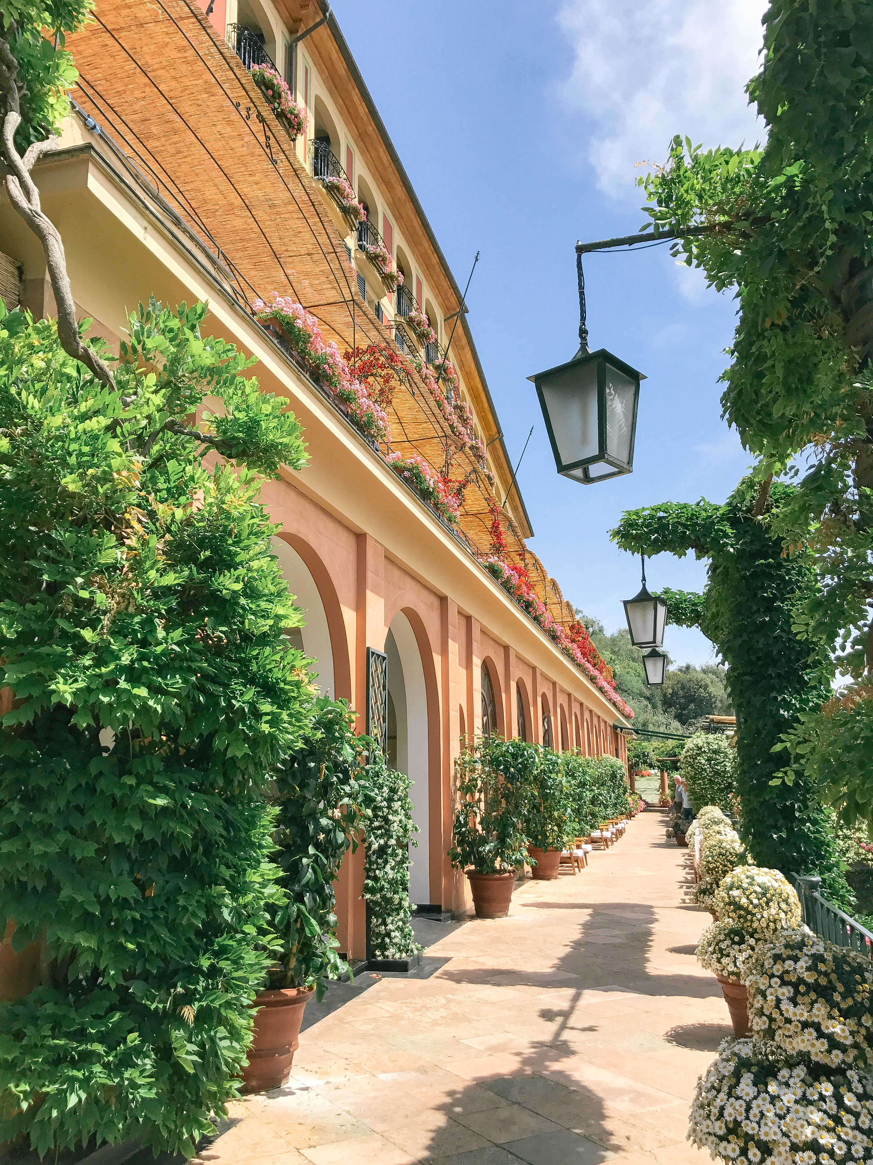
[[[410,778],[389,769],[379,749],[374,748],[361,782],[367,953],[372,959],[406,959],[421,949],[411,923],[410,845],[418,845],[411,788]]]

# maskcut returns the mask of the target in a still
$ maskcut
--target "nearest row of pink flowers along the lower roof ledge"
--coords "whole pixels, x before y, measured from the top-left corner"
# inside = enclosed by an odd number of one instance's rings
[[[389,444],[391,431],[385,410],[370,397],[367,387],[352,376],[333,340],[329,344],[325,343],[312,312],[275,291],[271,303],[255,299],[253,306],[262,324],[271,323],[281,326],[298,355],[342,402],[355,425],[371,440]]]

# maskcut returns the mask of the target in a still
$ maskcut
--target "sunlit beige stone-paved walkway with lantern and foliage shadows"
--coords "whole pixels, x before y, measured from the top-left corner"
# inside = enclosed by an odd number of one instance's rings
[[[730,1021],[665,822],[650,810],[581,874],[528,880],[506,919],[425,924],[443,937],[414,977],[332,988],[288,1087],[235,1106],[201,1160],[703,1165],[688,1107]]]

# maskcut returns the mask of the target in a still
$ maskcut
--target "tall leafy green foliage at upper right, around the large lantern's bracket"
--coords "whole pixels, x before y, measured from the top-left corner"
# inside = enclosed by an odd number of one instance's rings
[[[825,664],[850,686],[839,708],[802,712],[793,756],[847,817],[871,820],[873,3],[773,0],[764,23],[748,85],[764,148],[704,150],[676,136],[641,183],[654,234],[710,285],[736,289],[724,415],[758,458],[755,514],[767,513],[774,474],[799,479],[769,511],[788,552],[809,548],[821,580],[794,627],[810,651],[837,649]]]

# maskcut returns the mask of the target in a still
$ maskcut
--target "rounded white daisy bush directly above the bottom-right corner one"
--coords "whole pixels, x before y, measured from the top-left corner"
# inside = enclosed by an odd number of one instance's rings
[[[776,935],[744,977],[755,1036],[831,1068],[873,1066],[873,966],[805,931]]]

